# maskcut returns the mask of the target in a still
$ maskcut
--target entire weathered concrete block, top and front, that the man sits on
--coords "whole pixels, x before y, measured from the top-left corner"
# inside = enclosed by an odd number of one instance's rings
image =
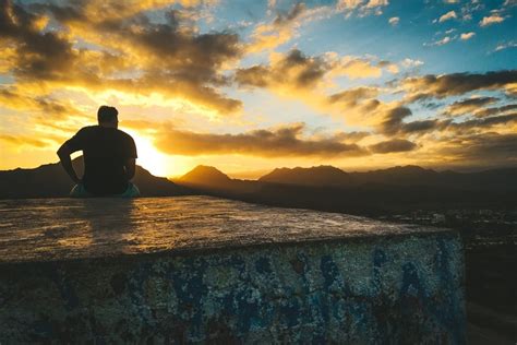
[[[453,231],[203,197],[0,214],[2,344],[464,343]]]

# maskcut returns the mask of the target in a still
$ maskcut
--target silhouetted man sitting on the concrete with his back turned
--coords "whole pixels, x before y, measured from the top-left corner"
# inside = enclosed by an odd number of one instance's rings
[[[139,197],[134,177],[136,146],[133,138],[118,129],[119,111],[101,106],[97,111],[98,126],[82,128],[58,150],[67,174],[77,183],[71,197]],[[83,151],[84,175],[80,179],[70,155]]]

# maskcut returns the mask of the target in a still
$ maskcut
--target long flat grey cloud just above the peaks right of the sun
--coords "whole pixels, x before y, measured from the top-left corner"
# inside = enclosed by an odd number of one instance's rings
[[[175,128],[161,129],[155,145],[167,154],[220,155],[241,154],[261,157],[282,156],[360,156],[368,151],[340,141],[340,135],[303,139],[303,123],[277,129],[253,130],[240,134],[197,133]]]

